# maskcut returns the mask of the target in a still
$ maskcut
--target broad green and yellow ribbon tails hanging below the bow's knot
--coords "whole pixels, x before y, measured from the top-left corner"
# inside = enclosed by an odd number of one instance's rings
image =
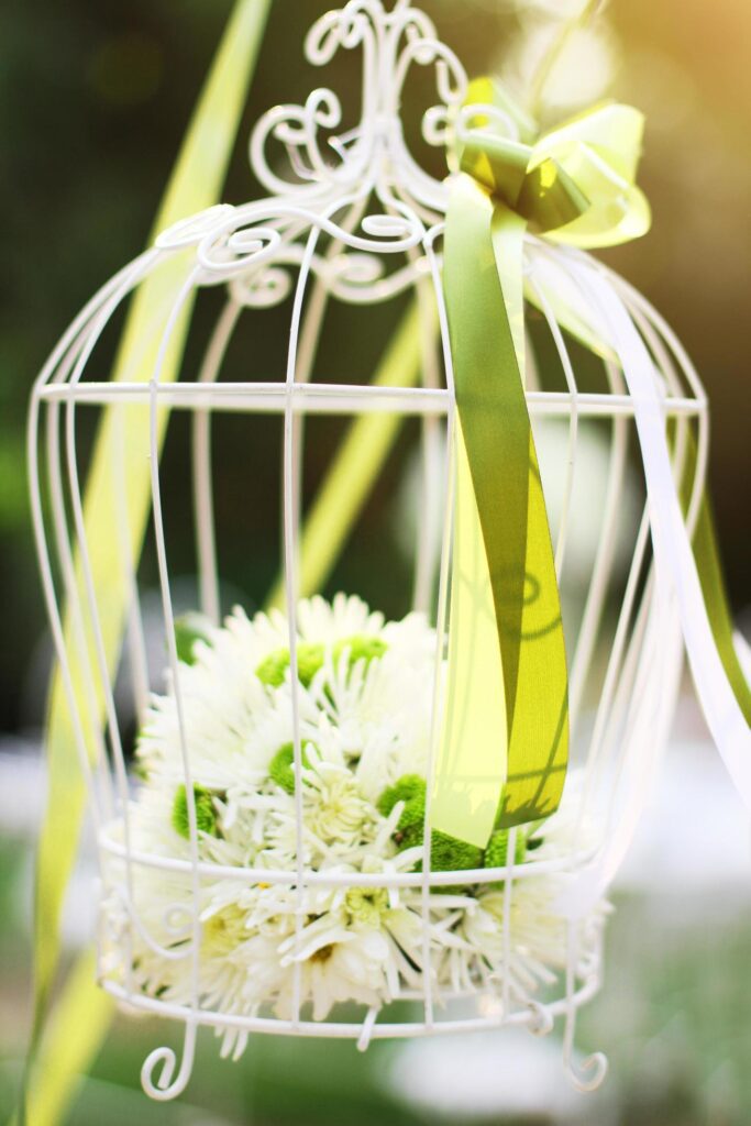
[[[560,598],[524,391],[525,227],[457,178],[444,256],[455,521],[432,822],[480,847],[494,828],[556,808],[569,749]]]

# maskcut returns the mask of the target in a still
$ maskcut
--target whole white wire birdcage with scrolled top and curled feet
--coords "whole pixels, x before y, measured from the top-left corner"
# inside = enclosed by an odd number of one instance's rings
[[[581,776],[574,795],[570,846],[553,859],[536,859],[530,854],[519,863],[517,830],[511,830],[507,863],[492,868],[431,872],[430,857],[426,856],[423,870],[314,870],[304,863],[303,797],[302,787],[296,786],[297,837],[293,852],[297,859],[290,868],[222,864],[202,858],[199,852],[191,759],[195,732],[190,708],[186,709],[181,698],[186,681],[178,667],[175,641],[175,584],[168,543],[172,494],[162,489],[160,480],[162,435],[167,432],[169,440],[186,412],[193,441],[179,448],[186,480],[193,481],[199,607],[214,623],[221,616],[222,544],[232,535],[232,528],[221,527],[223,506],[213,480],[223,449],[216,443],[212,449],[212,428],[227,413],[243,420],[276,417],[283,423],[280,570],[293,672],[297,667],[298,546],[305,495],[303,420],[322,414],[378,413],[417,420],[424,456],[419,489],[408,494],[418,527],[409,597],[436,626],[433,660],[437,667],[442,661],[450,572],[455,402],[440,284],[440,236],[448,189],[445,181],[424,172],[408,150],[400,108],[410,68],[431,70],[440,104],[424,114],[423,138],[430,145],[445,146],[452,131],[462,128],[467,80],[458,60],[437,39],[430,20],[404,0],[390,11],[381,0],[352,0],[342,10],[323,16],[307,36],[307,59],[320,66],[340,48],[357,48],[363,55],[361,118],[357,128],[332,135],[340,126],[342,109],[336,95],[324,89],[315,90],[304,106],[278,106],[266,114],[253,131],[250,159],[269,196],[243,206],[213,207],[164,231],[153,249],[113,278],[84,309],[35,386],[30,417],[34,517],[57,658],[73,716],[72,732],[97,831],[104,884],[100,981],[131,1009],[185,1024],[185,1047],[177,1074],[177,1058],[170,1048],[157,1049],[144,1064],[144,1088],[159,1099],[173,1097],[185,1088],[199,1026],[231,1030],[236,1034],[235,1044],[242,1043],[248,1033],[286,1033],[350,1037],[364,1048],[378,1037],[426,1036],[502,1025],[524,1025],[535,1034],[545,1034],[561,1018],[565,1065],[576,1083],[594,1087],[604,1076],[605,1057],[590,1057],[579,1073],[573,1035],[579,1007],[593,997],[601,981],[604,909],[598,904],[623,859],[649,794],[671,722],[682,660],[680,597],[670,588],[671,552],[677,548],[670,543],[670,527],[665,524],[672,510],[665,516],[661,500],[665,481],[658,480],[663,468],[662,454],[656,457],[660,464],[655,468],[655,452],[650,449],[650,443],[656,440],[654,434],[659,431],[664,457],[671,461],[670,488],[673,480],[681,479],[690,441],[697,443],[686,515],[686,527],[690,529],[704,481],[707,426],[701,385],[674,336],[643,297],[589,256],[531,235],[526,240],[527,296],[536,309],[537,340],[547,334],[544,346],[528,346],[527,401],[544,475],[558,477],[560,485],[562,482],[554,527],[555,562],[570,617],[566,638],[572,757]],[[267,142],[271,138],[280,142],[279,154],[286,148],[292,166],[289,180],[267,161]],[[97,346],[113,316],[144,279],[180,254],[191,256],[193,265],[169,316],[150,382],[100,382]],[[163,382],[162,365],[171,333],[194,294],[209,286],[224,287],[226,302],[216,319],[203,367],[196,377],[184,373],[177,383]],[[348,383],[312,378],[329,300],[370,306],[403,298],[411,292],[417,294],[422,324],[423,355],[417,386],[374,386],[367,382],[368,373],[354,373]],[[591,364],[581,367],[572,355],[572,338],[562,332],[556,320],[551,295],[561,292],[600,348],[602,359],[594,375]],[[248,311],[254,310],[257,318],[266,316],[270,314],[265,310],[276,305],[284,309],[289,301],[284,377],[221,382],[225,354]],[[360,314],[358,327],[363,323]],[[631,365],[627,379],[624,355],[634,347],[634,339],[647,368],[644,375],[642,367],[640,376],[634,375]],[[545,390],[533,361],[536,348],[547,357],[544,372],[540,361]],[[560,390],[553,390],[556,383]],[[87,529],[84,519],[79,468],[87,455],[81,452],[81,443],[77,444],[77,427],[86,412],[96,411],[111,426],[109,504],[119,535],[109,552],[110,565],[128,591],[126,620],[119,620],[107,601],[109,593],[97,590],[92,579],[91,536],[97,529]],[[651,437],[647,431],[654,420],[659,427]],[[670,446],[664,440],[667,422],[672,428]],[[558,426],[565,428],[565,454],[551,470],[546,466],[545,434]],[[168,695],[176,708],[188,795],[187,851],[176,856],[167,855],[169,850],[144,851],[133,838],[135,784],[128,771],[128,736],[120,730],[124,683],[133,690],[137,724],[147,708],[149,691],[162,690],[161,674],[150,669],[146,660],[144,641],[149,627],[144,622],[149,574],[132,548],[137,518],[132,510],[132,481],[126,465],[133,464],[128,444],[137,444],[138,436],[147,448],[151,474],[149,535],[153,534],[153,540],[147,540],[144,552],[151,553],[154,561],[161,592],[169,654]],[[593,471],[587,472],[600,476],[602,485],[599,492],[582,493],[587,482],[578,481],[578,467],[590,438],[600,459]],[[642,501],[641,522],[632,527],[635,498],[643,492],[641,480],[629,480],[634,452],[640,454],[645,471],[649,501]],[[247,483],[250,506],[253,488],[251,475]],[[596,534],[583,546],[574,544],[578,555],[589,552],[589,557],[579,558],[576,574],[571,577],[566,564],[572,527],[576,508],[582,506],[588,507],[587,517],[590,525],[594,524]],[[436,512],[440,535],[431,533]],[[667,560],[662,569],[654,566],[659,561],[650,535],[655,535],[660,522],[660,546]],[[628,537],[625,563],[624,536]],[[391,544],[384,547],[384,554],[387,551],[396,548]],[[388,566],[385,557],[383,565]],[[582,583],[583,593],[576,589]],[[570,587],[574,588],[572,597]],[[64,615],[59,609],[63,604]],[[107,656],[113,636],[124,638],[116,667],[109,667]],[[289,686],[294,763],[299,777],[304,767],[301,688],[294,676]],[[100,703],[104,720],[92,722],[100,713]],[[424,834],[429,839],[429,804],[426,816]],[[151,915],[144,918],[138,899],[138,887],[146,877],[161,881],[161,914],[155,922]],[[343,893],[355,885],[390,895],[395,890],[419,891],[422,969],[418,973],[412,966],[410,982],[396,982],[391,1006],[363,1006],[360,1012],[348,1009],[336,1020],[316,1020],[306,1009],[302,963],[293,954],[292,1002],[286,1016],[275,1015],[262,1004],[245,1012],[224,1011],[202,977],[202,890],[207,882],[218,879],[248,887],[262,883],[294,893],[293,951],[311,911],[310,897],[321,888]],[[462,988],[446,984],[431,965],[439,956],[433,937],[438,909],[431,890],[457,885],[457,881],[481,890],[491,884],[502,886],[497,963],[471,975]],[[511,972],[517,948],[522,945],[515,933],[521,911],[515,911],[515,900],[527,885],[545,891],[544,909],[555,920],[555,933],[562,944],[561,957],[543,967],[535,980]],[[173,895],[176,887],[179,892]],[[445,920],[446,912],[440,918]],[[164,965],[179,962],[185,968],[187,1000],[175,1001],[169,991],[164,995],[153,982],[149,988],[137,974],[134,976],[137,951],[146,947],[157,964],[159,959]],[[424,972],[426,967],[431,972]],[[158,1065],[160,1071],[154,1075]]]

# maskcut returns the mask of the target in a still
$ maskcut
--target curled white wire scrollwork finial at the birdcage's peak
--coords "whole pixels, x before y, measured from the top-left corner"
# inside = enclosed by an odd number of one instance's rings
[[[302,240],[315,230],[349,251],[325,262],[310,254],[310,267],[339,296],[374,301],[408,286],[420,267],[413,263],[378,285],[379,256],[406,253],[435,239],[447,187],[419,166],[406,145],[404,83],[412,66],[433,71],[437,104],[423,115],[422,135],[442,149],[463,127],[467,75],[432,21],[401,0],[391,10],[381,0],[352,0],[322,16],[305,39],[305,55],[315,66],[356,50],[363,92],[355,128],[337,132],[342,106],[327,88],[313,90],[304,105],[275,106],[257,123],[249,150],[252,170],[269,195],[189,217],[162,232],[157,247],[195,244],[200,282],[254,277],[251,287],[257,288],[258,275],[270,266],[299,263]],[[497,119],[498,113],[490,111]],[[270,151],[274,143],[286,153],[284,170],[280,152]],[[280,293],[275,291],[277,300]],[[265,294],[271,297],[268,286]]]

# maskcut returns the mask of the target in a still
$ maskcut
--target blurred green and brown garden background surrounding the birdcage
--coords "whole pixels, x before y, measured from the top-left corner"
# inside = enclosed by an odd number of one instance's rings
[[[580,0],[423,0],[471,72],[518,92]],[[275,0],[225,188],[256,191],[244,141],[269,106],[318,81],[302,59],[325,0]],[[197,91],[230,11],[226,0],[6,0],[0,12],[0,1110],[9,1108],[28,1024],[33,839],[43,803],[41,729],[50,665],[33,554],[24,427],[32,381],[78,309],[142,248]],[[731,602],[751,629],[746,337],[751,292],[751,6],[748,0],[613,0],[574,35],[546,89],[565,114],[606,93],[647,116],[641,182],[647,241],[608,254],[678,331],[712,403],[710,483]],[[356,72],[332,84],[355,97]],[[365,343],[378,355],[381,329]],[[261,356],[267,347],[260,342]],[[274,352],[268,343],[268,355]],[[336,361],[336,355],[330,357]],[[395,463],[396,464],[396,463]],[[315,468],[315,467],[313,467]],[[315,476],[315,473],[313,473]],[[179,489],[179,482],[175,482]],[[243,560],[250,601],[272,579],[268,546]],[[395,519],[370,506],[372,544]],[[367,529],[366,529],[367,531]],[[356,561],[373,569],[367,546]],[[368,560],[370,562],[368,563]],[[388,609],[388,607],[385,607]],[[687,688],[663,786],[617,894],[610,978],[582,1021],[613,1079],[592,1100],[564,1085],[556,1054],[502,1037],[415,1048],[333,1047],[257,1038],[242,1064],[199,1053],[188,1100],[151,1107],[137,1073],[159,1033],[119,1022],[82,1083],[71,1121],[609,1123],[742,1126],[751,1076],[751,895],[740,803],[705,745]],[[710,793],[712,822],[694,814]],[[680,801],[677,798],[680,796]],[[692,802],[696,801],[696,806]],[[86,940],[88,875],[72,890],[66,939]],[[79,899],[77,900],[77,896]],[[534,1048],[534,1051],[533,1051]]]

